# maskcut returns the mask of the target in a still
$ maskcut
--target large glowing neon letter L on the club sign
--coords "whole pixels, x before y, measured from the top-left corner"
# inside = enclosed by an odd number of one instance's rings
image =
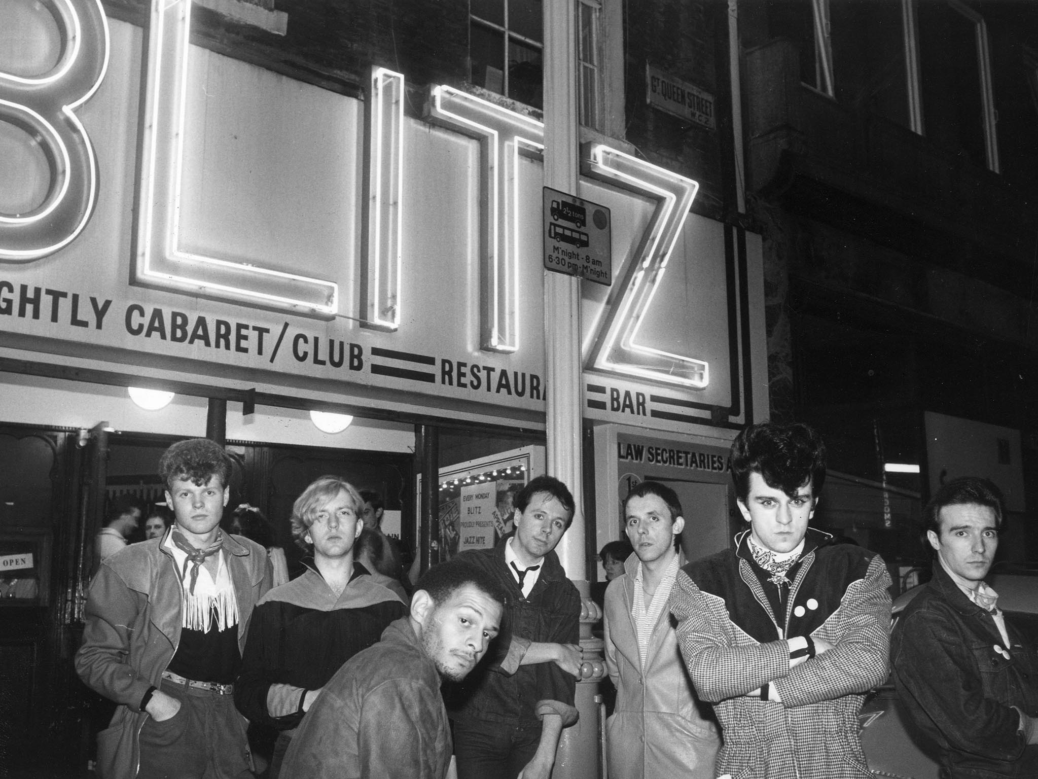
[[[330,316],[338,285],[180,248],[192,0],[153,0],[146,51],[136,280],[192,294]]]

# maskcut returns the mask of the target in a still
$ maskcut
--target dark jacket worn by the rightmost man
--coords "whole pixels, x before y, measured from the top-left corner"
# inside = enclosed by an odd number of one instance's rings
[[[1006,632],[1008,648],[939,563],[894,629],[898,694],[953,779],[1038,777],[1038,746],[1027,746],[1013,708],[1038,716],[1038,656],[1008,619]]]

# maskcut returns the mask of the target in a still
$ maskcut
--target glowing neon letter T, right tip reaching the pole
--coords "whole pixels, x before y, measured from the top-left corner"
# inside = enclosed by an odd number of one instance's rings
[[[450,86],[435,86],[426,118],[480,143],[481,345],[519,348],[519,156],[544,151],[544,124]]]

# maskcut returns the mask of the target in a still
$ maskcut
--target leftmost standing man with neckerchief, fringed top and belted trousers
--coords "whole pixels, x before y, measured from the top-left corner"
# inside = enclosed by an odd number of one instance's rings
[[[251,777],[231,693],[270,564],[219,528],[230,467],[214,441],[173,444],[159,462],[172,530],[108,558],[90,584],[76,671],[119,704],[98,736],[102,779]]]

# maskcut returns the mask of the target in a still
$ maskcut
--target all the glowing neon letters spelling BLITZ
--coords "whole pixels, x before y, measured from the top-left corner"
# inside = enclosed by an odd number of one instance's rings
[[[88,222],[97,200],[97,160],[75,111],[104,78],[109,54],[107,21],[100,0],[54,0],[52,7],[63,43],[53,72],[35,79],[0,74],[0,119],[40,138],[51,169],[51,186],[43,204],[28,214],[0,214],[0,262],[32,262],[67,246]],[[371,153],[361,207],[360,311],[344,312],[333,274],[328,278],[296,274],[248,259],[190,251],[182,245],[190,17],[191,0],[153,2],[134,227],[135,283],[300,315],[347,315],[391,338],[409,304],[401,295],[407,207],[404,77],[385,69],[372,74],[366,111]],[[538,204],[518,202],[518,161],[520,155],[543,153],[544,126],[449,86],[430,90],[426,119],[479,143],[480,344],[489,352],[517,352],[521,347],[518,269],[524,256],[519,217],[522,209],[538,212]],[[656,204],[588,355],[588,367],[686,388],[706,387],[709,366],[705,361],[638,340],[698,185],[600,143],[585,150],[583,172]],[[531,251],[537,254],[538,247],[525,253]]]

